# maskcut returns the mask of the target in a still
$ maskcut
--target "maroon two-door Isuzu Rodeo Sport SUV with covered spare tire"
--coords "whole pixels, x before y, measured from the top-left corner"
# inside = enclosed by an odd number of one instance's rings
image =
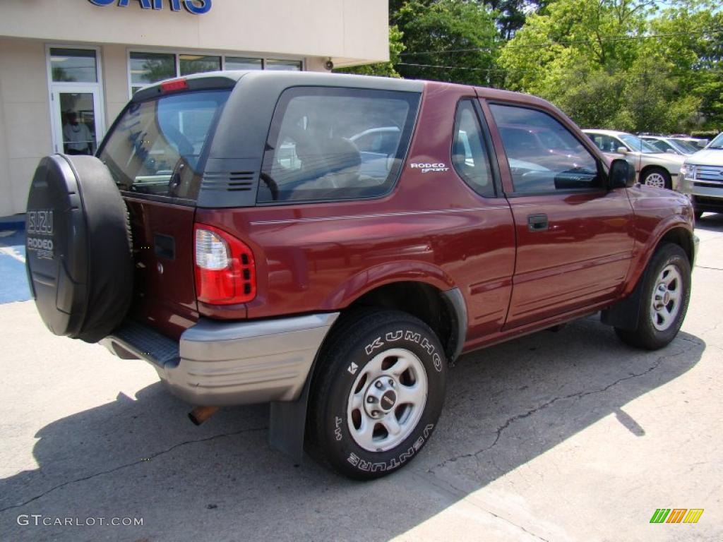
[[[661,348],[688,308],[688,198],[529,95],[200,74],[137,92],[97,156],[30,188],[48,328],[148,361],[199,423],[271,403],[274,447],[346,476],[416,457],[462,353],[596,311]]]

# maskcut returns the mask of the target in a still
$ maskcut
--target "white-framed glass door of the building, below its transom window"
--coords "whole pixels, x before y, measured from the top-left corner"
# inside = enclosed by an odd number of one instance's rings
[[[95,85],[62,85],[52,91],[55,152],[93,155],[103,134],[100,90]]]

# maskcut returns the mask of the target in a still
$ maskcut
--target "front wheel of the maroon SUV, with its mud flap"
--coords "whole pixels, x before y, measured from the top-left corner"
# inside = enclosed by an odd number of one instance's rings
[[[651,258],[643,277],[635,330],[615,328],[624,343],[657,350],[675,338],[690,301],[690,262],[680,246],[664,244]]]

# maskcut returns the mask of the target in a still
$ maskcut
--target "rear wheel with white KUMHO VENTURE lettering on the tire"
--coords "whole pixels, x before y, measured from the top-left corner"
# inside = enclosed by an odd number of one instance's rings
[[[360,480],[401,468],[435,428],[446,374],[442,345],[419,319],[386,310],[346,315],[317,362],[309,453]]]

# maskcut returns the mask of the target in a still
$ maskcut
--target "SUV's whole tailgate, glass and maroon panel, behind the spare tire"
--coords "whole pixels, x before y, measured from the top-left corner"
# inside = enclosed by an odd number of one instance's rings
[[[136,265],[132,317],[172,337],[198,318],[194,203],[208,142],[229,92],[131,103],[98,155],[129,210]]]

